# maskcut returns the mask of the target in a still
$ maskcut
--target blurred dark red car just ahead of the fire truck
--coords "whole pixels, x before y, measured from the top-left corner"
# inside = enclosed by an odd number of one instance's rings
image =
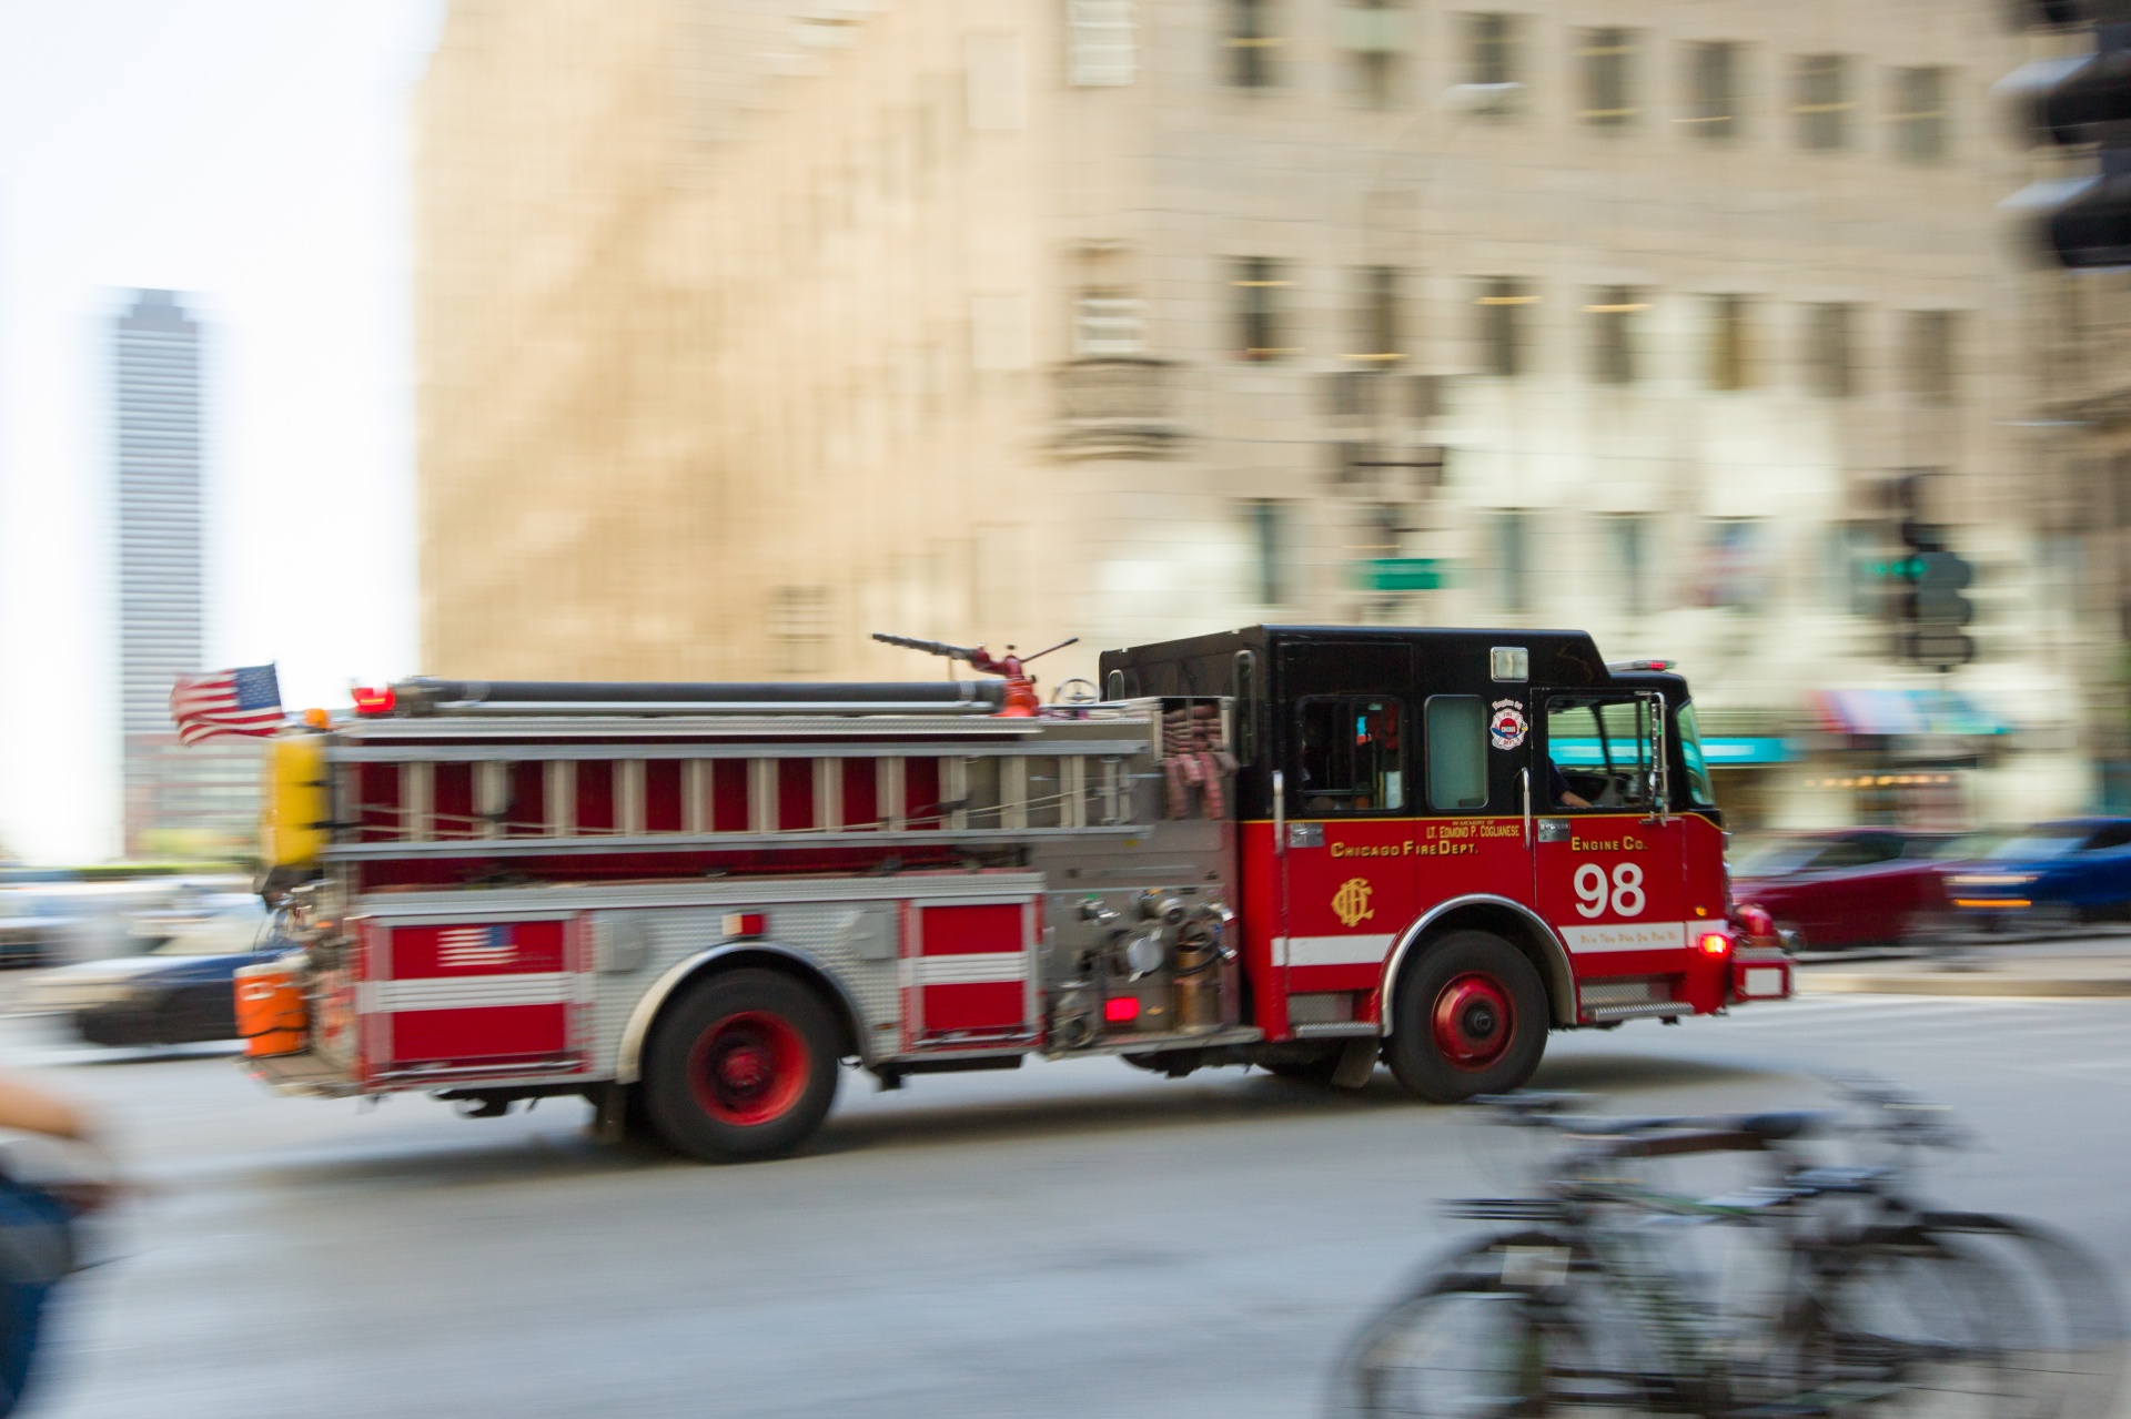
[[[1733,901],[1796,933],[1792,950],[1924,942],[1946,927],[1941,869],[1956,842],[1892,827],[1771,837],[1733,863]]]

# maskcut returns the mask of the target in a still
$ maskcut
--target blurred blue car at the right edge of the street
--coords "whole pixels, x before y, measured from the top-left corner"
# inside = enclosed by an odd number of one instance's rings
[[[1956,925],[1982,931],[2065,931],[2131,918],[2131,818],[2020,829],[1984,857],[1952,865],[1946,899]]]

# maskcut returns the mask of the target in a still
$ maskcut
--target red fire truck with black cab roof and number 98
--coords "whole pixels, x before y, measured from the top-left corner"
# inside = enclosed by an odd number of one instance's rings
[[[948,648],[950,650],[950,648]],[[978,660],[982,665],[982,660]],[[1021,673],[1019,663],[1010,673]],[[1027,686],[409,680],[273,744],[247,1070],[791,1151],[840,1063],[1515,1089],[1790,993],[1686,682],[1566,631],[1251,626]],[[1004,712],[1002,712],[1004,710]]]

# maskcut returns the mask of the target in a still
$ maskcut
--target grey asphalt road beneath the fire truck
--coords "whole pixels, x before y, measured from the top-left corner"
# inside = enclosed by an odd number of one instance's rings
[[[1343,1338],[1513,1180],[1502,1129],[1236,1070],[861,1076],[801,1159],[601,1148],[584,1108],[279,1099],[226,1057],[0,1027],[151,1195],[66,1298],[36,1415],[1311,1415]],[[1931,1174],[2131,1274],[2131,999],[1824,997],[1556,1035],[1622,1110],[1873,1072],[1982,1140]],[[30,1413],[30,1410],[26,1410]]]

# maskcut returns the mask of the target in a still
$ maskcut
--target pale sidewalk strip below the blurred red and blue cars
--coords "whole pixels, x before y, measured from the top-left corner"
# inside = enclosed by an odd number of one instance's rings
[[[1799,995],[2131,995],[2131,935],[1807,959]]]

